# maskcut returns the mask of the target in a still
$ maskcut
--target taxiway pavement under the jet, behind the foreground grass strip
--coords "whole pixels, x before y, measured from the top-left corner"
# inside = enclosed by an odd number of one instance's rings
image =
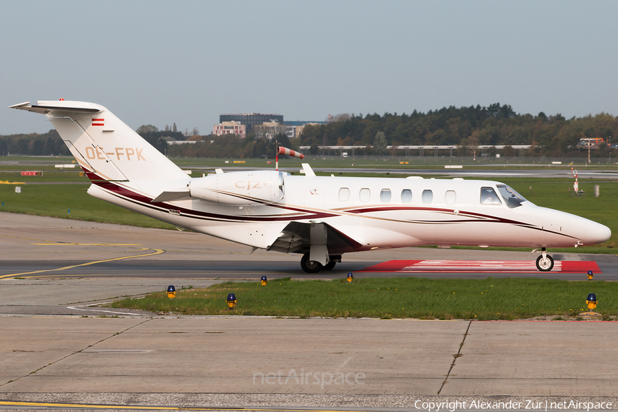
[[[0,279],[21,277],[137,277],[165,279],[259,279],[354,276],[520,277],[582,279],[582,273],[511,273],[479,271],[362,272],[389,260],[536,260],[515,251],[461,249],[383,249],[343,255],[332,271],[307,275],[300,255],[255,251],[200,233],[109,225],[78,220],[0,213]],[[551,251],[550,251],[551,252]],[[617,255],[553,253],[555,260],[594,261],[595,279],[618,280]],[[585,273],[585,272],[584,272]]]

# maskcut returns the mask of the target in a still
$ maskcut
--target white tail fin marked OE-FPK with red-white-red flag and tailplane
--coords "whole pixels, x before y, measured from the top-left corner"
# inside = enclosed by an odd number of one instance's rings
[[[99,104],[38,101],[10,108],[43,113],[94,181],[168,181],[187,174]]]

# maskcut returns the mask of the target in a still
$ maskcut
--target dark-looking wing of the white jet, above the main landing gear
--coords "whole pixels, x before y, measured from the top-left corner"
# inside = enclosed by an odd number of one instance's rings
[[[352,252],[363,246],[362,243],[357,242],[326,223],[290,222],[267,250],[283,253],[308,253],[312,244],[311,227],[315,226],[325,227],[326,246],[328,247],[328,253],[331,255]],[[317,242],[314,240],[313,243]]]

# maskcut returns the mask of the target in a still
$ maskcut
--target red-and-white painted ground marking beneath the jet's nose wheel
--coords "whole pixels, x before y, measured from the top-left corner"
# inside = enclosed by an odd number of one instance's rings
[[[602,273],[597,262],[556,260],[551,272]],[[361,272],[539,272],[534,260],[389,260],[364,268]]]

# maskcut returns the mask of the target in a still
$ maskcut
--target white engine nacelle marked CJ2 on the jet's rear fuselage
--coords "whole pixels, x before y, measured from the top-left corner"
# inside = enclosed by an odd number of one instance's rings
[[[211,174],[190,183],[190,196],[225,205],[259,205],[282,200],[284,173],[275,170]]]

